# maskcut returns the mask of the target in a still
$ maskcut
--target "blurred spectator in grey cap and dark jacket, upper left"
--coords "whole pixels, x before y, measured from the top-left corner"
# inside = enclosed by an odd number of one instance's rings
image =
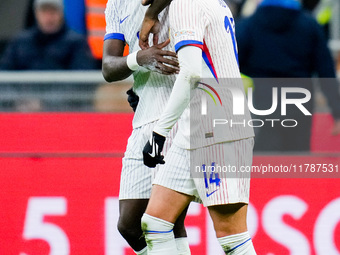
[[[63,0],[35,0],[37,26],[5,50],[2,70],[88,70],[96,68],[86,39],[64,23]]]

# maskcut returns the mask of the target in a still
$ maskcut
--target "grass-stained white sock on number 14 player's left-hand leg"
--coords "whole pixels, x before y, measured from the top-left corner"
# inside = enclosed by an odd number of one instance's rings
[[[148,255],[177,255],[176,242],[171,222],[144,213],[142,230],[148,246]]]

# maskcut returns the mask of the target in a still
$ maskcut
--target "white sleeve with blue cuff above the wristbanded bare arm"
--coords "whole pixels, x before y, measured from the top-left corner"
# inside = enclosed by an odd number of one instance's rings
[[[120,26],[120,17],[117,11],[117,1],[109,0],[105,9],[106,34],[104,40],[118,39],[125,42]]]

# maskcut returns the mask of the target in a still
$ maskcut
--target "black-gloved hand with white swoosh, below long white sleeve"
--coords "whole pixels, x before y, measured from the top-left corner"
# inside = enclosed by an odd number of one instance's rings
[[[143,149],[143,162],[148,167],[156,167],[157,164],[164,164],[164,156],[161,154],[165,143],[165,137],[152,132],[150,140]]]

